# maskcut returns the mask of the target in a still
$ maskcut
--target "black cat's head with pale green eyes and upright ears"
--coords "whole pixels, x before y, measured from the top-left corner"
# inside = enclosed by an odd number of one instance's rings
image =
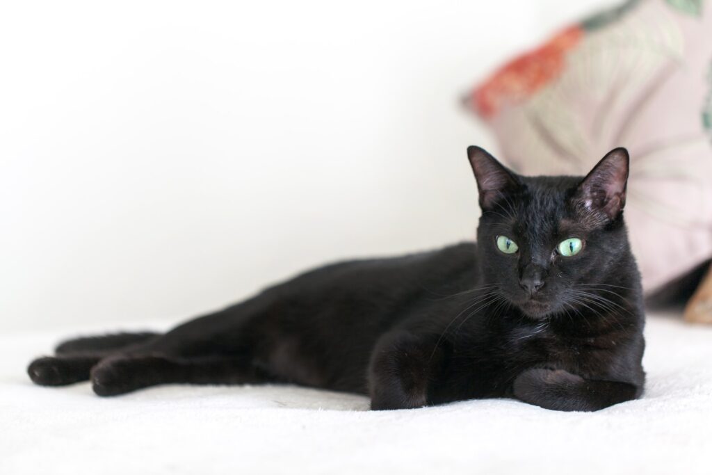
[[[586,177],[523,177],[480,147],[467,152],[482,209],[483,283],[525,315],[596,306],[590,294],[637,278],[622,217],[627,150],[612,150]]]

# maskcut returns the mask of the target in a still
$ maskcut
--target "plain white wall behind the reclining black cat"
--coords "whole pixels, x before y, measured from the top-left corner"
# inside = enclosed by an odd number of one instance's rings
[[[472,239],[459,97],[616,1],[0,4],[0,330]]]

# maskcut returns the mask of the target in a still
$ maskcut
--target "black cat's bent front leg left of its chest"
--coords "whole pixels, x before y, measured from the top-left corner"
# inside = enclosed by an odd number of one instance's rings
[[[432,372],[441,352],[428,338],[405,330],[383,335],[371,355],[368,383],[371,409],[409,409],[428,402]]]

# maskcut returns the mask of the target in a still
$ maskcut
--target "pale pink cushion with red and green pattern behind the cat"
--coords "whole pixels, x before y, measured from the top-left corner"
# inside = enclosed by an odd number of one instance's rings
[[[712,257],[712,11],[631,0],[515,58],[466,101],[523,174],[631,152],[626,219],[646,291]]]

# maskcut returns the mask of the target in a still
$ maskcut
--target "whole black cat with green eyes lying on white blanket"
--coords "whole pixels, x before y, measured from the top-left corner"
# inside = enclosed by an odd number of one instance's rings
[[[79,338],[28,368],[98,395],[292,382],[372,409],[514,397],[592,411],[641,395],[644,312],[618,148],[585,178],[521,177],[469,147],[477,244],[335,263],[163,335]]]

